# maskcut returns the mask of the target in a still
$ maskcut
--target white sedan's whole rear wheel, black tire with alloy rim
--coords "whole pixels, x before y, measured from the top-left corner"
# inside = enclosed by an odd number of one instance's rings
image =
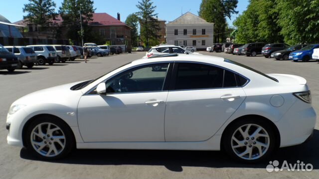
[[[246,130],[249,125],[247,135]],[[254,135],[253,133],[259,128],[261,130]],[[243,133],[240,132],[240,129]],[[263,119],[246,118],[235,121],[226,128],[223,135],[222,145],[226,153],[244,163],[258,163],[267,159],[276,148],[277,143],[275,129]]]

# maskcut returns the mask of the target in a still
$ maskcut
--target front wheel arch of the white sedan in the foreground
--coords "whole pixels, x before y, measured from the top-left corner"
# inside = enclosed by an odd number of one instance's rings
[[[73,137],[73,140],[74,142],[76,143],[76,138],[75,138],[75,135],[74,135],[74,131],[71,129],[71,127],[69,126],[69,124],[67,122],[65,122],[63,119],[61,119],[60,117],[56,116],[56,115],[53,115],[53,114],[37,114],[33,117],[31,117],[29,120],[27,120],[25,122],[25,124],[23,125],[23,128],[22,128],[22,144],[24,147],[27,147],[26,144],[26,132],[27,132],[27,127],[35,120],[37,120],[38,118],[40,117],[44,117],[44,116],[51,116],[51,117],[54,117],[56,118],[57,120],[59,120],[60,122],[64,123],[68,128],[69,130],[72,132],[72,137]]]

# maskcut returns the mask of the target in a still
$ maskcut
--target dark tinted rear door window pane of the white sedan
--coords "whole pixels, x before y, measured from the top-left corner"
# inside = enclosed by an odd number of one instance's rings
[[[175,89],[221,88],[224,70],[195,63],[179,63]]]

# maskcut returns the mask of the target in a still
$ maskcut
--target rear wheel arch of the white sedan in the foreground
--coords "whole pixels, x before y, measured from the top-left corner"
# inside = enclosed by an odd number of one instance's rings
[[[276,148],[279,148],[279,147],[280,147],[281,138],[280,138],[280,132],[279,132],[279,130],[278,130],[278,127],[275,125],[275,123],[274,123],[273,121],[271,121],[270,119],[264,117],[264,116],[256,115],[256,114],[248,114],[248,115],[243,115],[243,116],[240,116],[240,117],[234,119],[233,121],[231,121],[231,122],[225,127],[225,129],[223,130],[222,135],[221,135],[220,149],[221,149],[221,150],[224,150],[223,140],[224,140],[224,137],[225,137],[225,133],[228,131],[228,129],[230,128],[231,125],[233,125],[234,123],[236,123],[236,122],[239,121],[239,120],[252,119],[252,118],[255,118],[255,119],[258,118],[258,119],[260,119],[260,120],[263,120],[263,121],[267,122],[270,126],[272,126],[272,128],[273,128],[274,131],[275,131],[275,136],[276,136]]]

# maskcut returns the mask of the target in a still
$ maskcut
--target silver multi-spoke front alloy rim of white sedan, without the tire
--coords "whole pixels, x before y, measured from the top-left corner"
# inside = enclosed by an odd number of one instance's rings
[[[44,122],[36,125],[30,136],[33,149],[44,157],[55,157],[65,148],[66,137],[60,127]]]

